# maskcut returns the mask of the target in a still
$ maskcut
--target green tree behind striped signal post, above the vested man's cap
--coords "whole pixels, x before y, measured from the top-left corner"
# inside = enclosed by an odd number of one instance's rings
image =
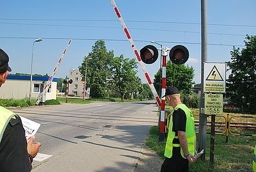
[[[176,86],[181,94],[181,98],[185,104],[188,103],[189,95],[193,92],[192,86],[194,69],[192,66],[175,65],[172,61],[168,61],[166,65],[166,88],[170,86]],[[155,79],[154,86],[159,93],[159,87],[162,77],[162,71],[158,70]]]

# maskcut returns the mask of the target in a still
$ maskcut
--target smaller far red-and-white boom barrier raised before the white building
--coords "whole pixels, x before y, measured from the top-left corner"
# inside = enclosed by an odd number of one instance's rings
[[[61,61],[62,61],[62,59],[63,59],[63,56],[64,56],[65,53],[67,52],[67,49],[68,49],[68,47],[69,47],[69,45],[70,45],[71,42],[72,42],[72,40],[69,40],[69,41],[68,41],[68,45],[67,45],[67,47],[65,48],[65,50],[63,51],[63,53],[61,54],[61,57],[60,57],[60,59],[58,60],[58,63],[57,63],[57,65],[55,66],[55,68],[54,68],[54,70],[53,70],[53,72],[52,72],[52,75],[49,77],[48,81],[46,82],[46,84],[45,84],[45,86],[44,86],[44,90],[42,91],[42,93],[40,93],[40,94],[38,95],[38,99],[37,99],[37,101],[36,101],[36,105],[39,105],[40,103],[42,103],[42,102],[44,103],[44,102],[45,102],[47,90],[50,88],[51,83],[52,83],[52,80],[53,80],[53,78],[54,78],[54,75],[56,74],[56,72],[57,72],[57,70],[58,70],[58,67],[60,66],[60,63],[61,63]]]

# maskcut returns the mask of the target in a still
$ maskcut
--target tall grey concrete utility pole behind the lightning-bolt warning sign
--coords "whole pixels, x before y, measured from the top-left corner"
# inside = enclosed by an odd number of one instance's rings
[[[204,62],[207,61],[207,0],[201,0],[201,96],[200,96],[200,114],[199,114],[199,150],[204,149],[206,145],[206,124],[207,114],[204,112]],[[205,160],[205,153],[201,156]]]

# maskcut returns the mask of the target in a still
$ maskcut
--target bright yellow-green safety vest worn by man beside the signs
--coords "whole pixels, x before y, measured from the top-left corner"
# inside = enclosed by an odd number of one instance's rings
[[[186,137],[188,141],[188,152],[191,153],[191,155],[194,155],[195,153],[195,123],[194,123],[194,117],[191,111],[188,107],[186,107],[184,104],[177,105],[174,109],[180,108],[182,109],[186,114]],[[180,147],[180,144],[173,143],[173,139],[179,139],[178,136],[175,136],[175,132],[172,131],[173,121],[172,121],[172,115],[170,116],[170,123],[169,123],[169,130],[168,130],[168,137],[166,140],[166,146],[164,150],[164,156],[165,157],[172,157],[172,150],[173,147]],[[182,148],[180,148],[180,154],[182,157],[184,157],[184,152]],[[185,158],[185,157],[184,157]],[[185,158],[186,159],[186,158]]]

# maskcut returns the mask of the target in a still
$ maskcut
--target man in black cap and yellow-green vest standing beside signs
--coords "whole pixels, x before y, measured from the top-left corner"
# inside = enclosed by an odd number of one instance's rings
[[[166,101],[173,107],[170,116],[168,137],[164,150],[161,172],[184,172],[189,170],[189,162],[195,162],[195,123],[189,108],[182,104],[179,90],[172,86],[166,89]]]

